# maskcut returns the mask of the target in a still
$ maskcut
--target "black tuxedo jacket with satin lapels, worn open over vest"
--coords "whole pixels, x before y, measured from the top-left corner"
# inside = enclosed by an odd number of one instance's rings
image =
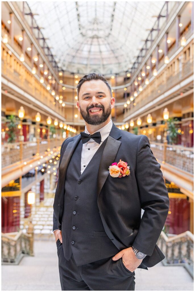
[[[53,230],[61,230],[66,169],[80,140],[79,134],[61,146]],[[120,159],[130,166],[130,175],[113,178],[109,166]],[[119,130],[113,124],[100,161],[97,206],[105,232],[119,250],[134,246],[147,255],[142,261],[146,267],[164,259],[156,243],[168,214],[169,196],[146,135]]]

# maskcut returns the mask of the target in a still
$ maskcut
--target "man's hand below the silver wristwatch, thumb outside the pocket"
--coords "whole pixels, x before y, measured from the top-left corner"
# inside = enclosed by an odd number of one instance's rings
[[[123,264],[131,272],[134,272],[134,270],[136,270],[136,268],[142,262],[142,260],[139,260],[138,258],[136,258],[132,247],[128,247],[128,248],[123,249],[122,251],[117,253],[112,259],[118,260],[119,258],[122,258]]]

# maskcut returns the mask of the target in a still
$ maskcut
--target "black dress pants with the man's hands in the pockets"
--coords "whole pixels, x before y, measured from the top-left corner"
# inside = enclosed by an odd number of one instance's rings
[[[134,291],[135,272],[129,271],[122,258],[117,261],[109,258],[78,266],[73,255],[66,260],[63,246],[58,239],[57,254],[59,259],[59,274],[62,291]]]

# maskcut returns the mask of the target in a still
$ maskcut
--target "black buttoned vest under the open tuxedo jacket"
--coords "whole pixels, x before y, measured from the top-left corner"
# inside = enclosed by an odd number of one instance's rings
[[[66,172],[62,244],[65,258],[70,260],[73,253],[77,266],[114,256],[119,251],[104,231],[97,207],[97,175],[106,141],[82,174],[80,141]]]

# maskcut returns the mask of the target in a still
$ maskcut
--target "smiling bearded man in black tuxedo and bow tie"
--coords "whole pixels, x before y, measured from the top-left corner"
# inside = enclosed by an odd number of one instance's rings
[[[164,258],[156,242],[169,197],[160,164],[147,136],[112,123],[115,99],[101,74],[82,77],[77,96],[85,131],[61,146],[54,199],[61,288],[134,290],[136,268]]]

